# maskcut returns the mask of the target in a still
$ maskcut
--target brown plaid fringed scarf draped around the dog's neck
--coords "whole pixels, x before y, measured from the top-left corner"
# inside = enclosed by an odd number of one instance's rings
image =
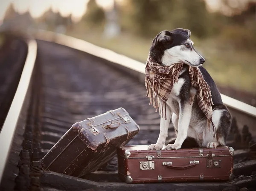
[[[147,89],[146,97],[150,98],[150,105],[154,108],[159,108],[159,113],[166,119],[166,101],[175,83],[178,82],[178,77],[182,71],[183,63],[173,64],[171,66],[161,66],[150,57],[146,62],[145,67],[145,86]],[[212,123],[213,137],[215,137],[215,125],[212,122],[212,97],[211,90],[204,80],[204,77],[198,67],[189,66],[189,78],[191,85],[198,90],[197,99],[198,105],[207,117],[208,128],[210,131],[210,123]],[[162,99],[162,107],[160,107],[160,98]],[[162,111],[160,111],[162,108]]]

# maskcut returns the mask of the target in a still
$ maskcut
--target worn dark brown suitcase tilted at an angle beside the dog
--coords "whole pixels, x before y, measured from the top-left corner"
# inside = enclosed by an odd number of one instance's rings
[[[140,128],[124,108],[75,123],[41,159],[44,170],[75,177],[111,160]]]

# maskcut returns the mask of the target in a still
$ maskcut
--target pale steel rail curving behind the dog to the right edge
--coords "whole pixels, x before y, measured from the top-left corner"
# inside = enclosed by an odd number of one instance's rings
[[[68,46],[79,51],[87,52],[96,57],[100,57],[104,60],[108,60],[111,63],[116,63],[120,66],[124,66],[126,68],[131,69],[132,71],[137,71],[140,74],[143,74],[137,77],[139,77],[141,81],[144,81],[145,79],[145,64],[133,60],[129,57],[126,57],[122,54],[117,54],[116,52],[111,51],[109,49],[102,48],[93,45],[92,43],[88,43],[84,40],[80,40],[64,34],[58,34],[44,30],[35,30],[32,31],[32,33],[38,40],[55,42],[60,45]],[[232,97],[228,97],[224,94],[221,94],[221,98],[223,100],[223,103],[227,105],[227,107],[235,110],[236,112],[238,111],[239,113],[247,114],[250,117],[256,118],[256,107],[253,107],[252,105],[249,105],[247,103],[243,103],[239,100],[233,99]]]

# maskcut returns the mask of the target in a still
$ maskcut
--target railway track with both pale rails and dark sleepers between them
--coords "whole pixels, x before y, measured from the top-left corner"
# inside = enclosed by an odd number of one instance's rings
[[[38,160],[77,121],[123,107],[141,129],[129,145],[151,144],[158,137],[160,116],[145,97],[142,63],[59,34],[36,33],[36,38],[28,41],[23,74],[0,133],[5,145],[1,191],[254,188],[256,156],[249,144],[256,137],[256,109],[224,95],[235,117],[228,137],[228,145],[235,149],[233,181],[130,185],[118,179],[116,157],[82,178],[42,171]],[[173,135],[170,125],[169,136]]]

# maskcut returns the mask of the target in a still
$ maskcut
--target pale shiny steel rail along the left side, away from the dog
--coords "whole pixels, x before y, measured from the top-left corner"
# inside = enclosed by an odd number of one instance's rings
[[[28,54],[23,67],[23,71],[20,77],[15,96],[12,100],[12,104],[9,108],[9,112],[6,116],[3,128],[0,132],[0,145],[1,145],[1,157],[0,157],[0,180],[2,180],[3,172],[6,167],[6,163],[9,157],[10,149],[12,147],[13,137],[17,127],[17,122],[20,117],[20,112],[23,107],[24,99],[26,97],[32,71],[35,65],[37,55],[37,43],[35,40],[27,40]]]

